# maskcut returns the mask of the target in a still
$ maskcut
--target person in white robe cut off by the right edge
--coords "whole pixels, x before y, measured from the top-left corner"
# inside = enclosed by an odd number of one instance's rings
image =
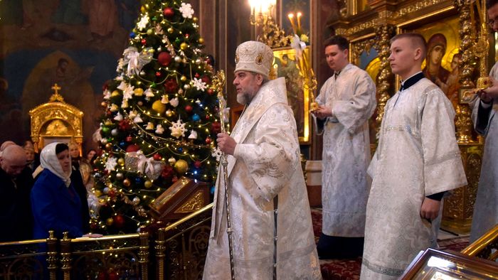
[[[498,31],[498,0],[487,1],[489,26]],[[475,130],[486,137],[482,156],[481,176],[472,216],[470,242],[484,235],[498,224],[498,63],[489,78],[492,86],[477,92],[479,98],[472,110]]]

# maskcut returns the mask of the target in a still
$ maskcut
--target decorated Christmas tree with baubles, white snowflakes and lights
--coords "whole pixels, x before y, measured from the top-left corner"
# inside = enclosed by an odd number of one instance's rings
[[[142,1],[117,77],[103,92],[92,230],[150,225],[150,203],[181,176],[214,184],[221,124],[202,48],[190,4]]]

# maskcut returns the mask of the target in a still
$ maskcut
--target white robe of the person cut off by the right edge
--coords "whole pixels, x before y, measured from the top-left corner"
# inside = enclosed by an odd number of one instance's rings
[[[489,76],[498,80],[498,63],[494,64]],[[487,110],[480,108],[480,99],[477,98],[472,110],[475,129],[484,134],[486,141],[472,216],[470,242],[474,242],[498,224],[498,100],[494,100],[489,106],[491,107]]]

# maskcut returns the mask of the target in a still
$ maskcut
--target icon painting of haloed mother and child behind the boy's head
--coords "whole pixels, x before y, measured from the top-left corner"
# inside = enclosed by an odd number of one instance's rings
[[[460,82],[458,81],[461,58],[459,26],[457,16],[451,16],[423,26],[412,25],[408,28],[400,28],[400,33],[416,32],[423,35],[427,55],[422,64],[422,71],[425,77],[443,90],[455,109],[457,104],[462,102],[459,97]]]

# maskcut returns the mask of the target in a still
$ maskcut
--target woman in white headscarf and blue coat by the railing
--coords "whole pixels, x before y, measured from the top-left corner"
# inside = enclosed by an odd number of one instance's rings
[[[83,235],[81,202],[70,180],[71,158],[68,145],[63,143],[48,144],[41,151],[41,172],[31,190],[31,208],[34,217],[33,237],[44,239],[48,231],[54,230],[55,236],[62,237],[69,232],[69,237]]]

